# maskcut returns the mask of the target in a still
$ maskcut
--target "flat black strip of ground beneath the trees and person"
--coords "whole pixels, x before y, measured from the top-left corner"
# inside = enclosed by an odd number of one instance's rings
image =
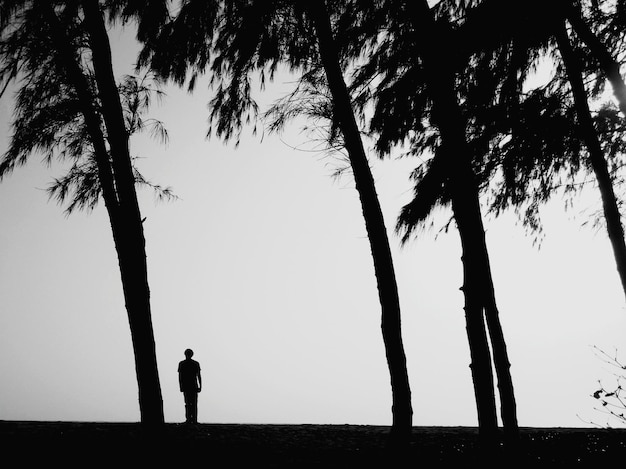
[[[514,455],[481,456],[472,427],[415,427],[406,454],[387,445],[389,427],[369,425],[166,424],[0,421],[11,467],[360,468],[616,467],[626,429],[522,428]],[[394,455],[398,456],[396,460]]]

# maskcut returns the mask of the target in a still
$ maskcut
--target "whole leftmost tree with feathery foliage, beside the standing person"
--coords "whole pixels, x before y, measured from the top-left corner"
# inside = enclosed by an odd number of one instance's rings
[[[61,200],[73,191],[69,210],[93,207],[98,197],[104,200],[131,329],[141,422],[161,424],[163,401],[135,190],[142,178],[130,157],[133,129],[125,126],[129,113],[113,74],[104,12],[97,0],[4,1],[0,12],[3,89],[19,80],[14,134],[0,176],[43,151],[48,160],[74,161],[68,176],[52,188]]]

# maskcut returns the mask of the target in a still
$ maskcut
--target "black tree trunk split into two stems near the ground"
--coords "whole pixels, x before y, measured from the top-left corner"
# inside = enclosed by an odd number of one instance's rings
[[[439,128],[450,164],[448,185],[463,248],[463,293],[479,428],[484,441],[495,442],[497,417],[491,353],[484,325],[486,320],[498,376],[503,425],[510,439],[516,440],[519,428],[510,363],[495,302],[478,185],[471,168],[471,153],[456,98],[455,71],[449,62],[452,54],[445,50],[445,36],[440,34],[442,31],[435,24],[428,4],[425,1],[419,4],[405,2],[405,6],[413,21],[418,41],[416,49],[424,61],[427,86],[433,101],[433,123]],[[455,160],[452,161],[452,158]]]

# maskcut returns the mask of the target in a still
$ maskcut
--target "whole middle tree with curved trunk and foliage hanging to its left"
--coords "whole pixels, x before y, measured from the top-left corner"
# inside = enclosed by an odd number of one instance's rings
[[[356,7],[358,2],[347,3]],[[159,41],[149,44],[150,50],[144,53],[143,60],[164,78],[172,78],[181,85],[186,82],[190,67],[193,70],[190,88],[195,77],[210,68],[211,81],[217,88],[210,103],[211,121],[215,123],[216,134],[225,139],[237,135],[243,122],[258,112],[250,95],[251,73],[259,72],[263,82],[266,73],[271,79],[279,64],[286,64],[298,73],[318,64],[323,68],[334,119],[343,136],[359,192],[374,260],[391,376],[392,437],[394,441],[407,442],[412,407],[397,284],[382,211],[333,37],[332,18],[342,8],[348,6],[324,0],[185,2],[173,22],[164,26]]]

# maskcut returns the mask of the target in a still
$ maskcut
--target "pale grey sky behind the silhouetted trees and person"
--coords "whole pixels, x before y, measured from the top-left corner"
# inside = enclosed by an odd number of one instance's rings
[[[116,71],[132,70],[132,31],[110,32]],[[289,88],[278,78],[264,102]],[[391,424],[380,304],[358,194],[339,157],[297,125],[208,140],[210,91],[173,86],[150,116],[162,145],[134,138],[139,168],[179,197],[139,192],[167,422],[184,421],[177,364],[202,368],[204,423]],[[0,151],[12,101],[0,100]],[[310,148],[310,145],[308,145]],[[63,174],[34,155],[0,182],[0,420],[139,420],[130,330],[104,205],[67,216],[45,188]],[[372,171],[402,309],[414,425],[475,426],[459,237],[435,228],[401,245],[416,159]],[[615,383],[594,353],[626,353],[626,304],[608,238],[583,226],[590,190],[543,208],[538,247],[514,214],[485,215],[496,299],[521,426],[605,425],[591,394]],[[611,421],[612,425],[616,422]]]

